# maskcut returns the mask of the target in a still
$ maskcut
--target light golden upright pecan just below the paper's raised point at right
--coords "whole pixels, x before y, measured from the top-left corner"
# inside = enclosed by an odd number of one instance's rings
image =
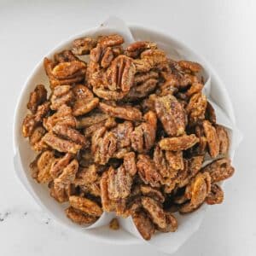
[[[186,111],[189,114],[190,123],[193,125],[205,119],[206,109],[206,96],[204,96],[201,92],[195,93],[193,96],[191,96],[189,103],[186,107]]]

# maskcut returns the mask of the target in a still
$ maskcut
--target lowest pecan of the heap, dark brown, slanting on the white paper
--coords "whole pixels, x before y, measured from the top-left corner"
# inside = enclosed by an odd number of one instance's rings
[[[151,236],[154,235],[154,224],[146,212],[139,211],[134,212],[132,215],[132,220],[139,233],[143,236],[145,240],[150,240]]]

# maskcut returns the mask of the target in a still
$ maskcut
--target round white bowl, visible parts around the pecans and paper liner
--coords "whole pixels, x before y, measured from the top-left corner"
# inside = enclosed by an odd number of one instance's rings
[[[211,65],[204,60],[200,55],[195,54],[195,52],[188,47],[186,47],[183,43],[174,39],[171,36],[166,35],[166,33],[156,32],[148,28],[144,28],[142,26],[130,26],[131,33],[135,40],[149,40],[158,42],[163,45],[168,44],[168,49],[165,49],[171,52],[172,55],[172,45],[180,46],[183,48],[183,52],[188,52],[191,61],[198,61],[202,64],[203,67],[206,67],[208,72],[211,73],[212,78],[212,87],[211,87],[211,97],[214,102],[218,104],[220,108],[224,110],[226,115],[230,118],[230,121],[235,124],[235,115],[232,108],[232,104],[230,102],[230,97],[224,87],[224,84],[218,78],[217,73],[212,69]],[[93,36],[96,33],[97,28],[91,29],[87,32],[82,32],[78,35],[73,36],[72,38],[68,38],[67,41],[62,42],[59,46],[52,49],[47,57],[52,57],[55,52],[61,51],[62,49],[67,49],[71,47],[73,39],[80,38],[84,36]],[[184,51],[185,49],[185,51]],[[186,54],[184,54],[184,58]],[[30,174],[29,163],[34,159],[35,154],[32,152],[32,149],[29,147],[29,143],[24,139],[21,135],[21,122],[27,113],[26,102],[28,101],[30,92],[34,89],[36,84],[49,84],[48,78],[44,73],[44,65],[43,60],[38,62],[38,65],[33,69],[31,75],[26,79],[26,83],[20,93],[20,98],[17,103],[17,107],[15,109],[15,122],[13,127],[14,132],[14,149],[15,149],[15,172],[20,179],[20,182],[23,183],[28,192],[33,196],[35,201],[44,209],[44,212],[49,214],[49,216],[59,223],[69,227],[73,230],[78,230],[83,232],[84,235],[92,238],[94,241],[104,241],[108,243],[114,244],[135,244],[140,243],[139,240],[135,236],[131,236],[128,232],[124,230],[113,231],[109,230],[108,227],[96,228],[93,230],[84,230],[77,224],[73,224],[70,220],[68,220],[63,211],[64,206],[54,201],[49,196],[49,190],[46,186],[42,186],[36,183]],[[230,152],[231,155],[234,152]],[[196,214],[196,212],[195,212]],[[189,230],[189,234],[186,234],[186,239],[189,238],[197,229],[199,225],[195,225],[191,230]],[[170,239],[172,239],[170,237]],[[186,239],[178,245],[180,246]]]

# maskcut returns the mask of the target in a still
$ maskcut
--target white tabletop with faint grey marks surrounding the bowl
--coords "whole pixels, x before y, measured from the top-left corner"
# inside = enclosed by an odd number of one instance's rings
[[[87,241],[61,228],[14,175],[12,122],[27,75],[61,40],[109,15],[174,35],[204,55],[224,80],[244,134],[224,204],[211,207],[200,230],[175,255],[255,255],[256,1],[16,2],[0,0],[0,255],[165,255],[151,247]]]

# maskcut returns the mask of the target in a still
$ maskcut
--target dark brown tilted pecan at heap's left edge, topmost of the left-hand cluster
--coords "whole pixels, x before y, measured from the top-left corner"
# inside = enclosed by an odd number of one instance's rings
[[[32,112],[36,113],[38,106],[43,104],[47,100],[47,90],[43,84],[38,84],[35,90],[32,91],[27,103],[27,108]]]

